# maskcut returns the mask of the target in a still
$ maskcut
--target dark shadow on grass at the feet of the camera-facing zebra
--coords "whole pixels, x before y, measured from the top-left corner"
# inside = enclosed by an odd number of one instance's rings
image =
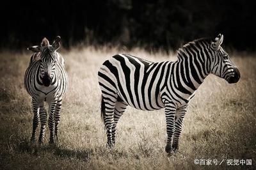
[[[22,153],[26,152],[31,155],[44,155],[45,153],[50,153],[61,158],[77,158],[85,161],[93,155],[93,150],[90,148],[85,150],[72,150],[57,144],[33,144],[26,139],[19,143],[17,149],[17,151]]]

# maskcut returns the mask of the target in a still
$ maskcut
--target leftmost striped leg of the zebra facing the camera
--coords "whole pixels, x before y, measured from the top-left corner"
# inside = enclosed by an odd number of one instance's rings
[[[33,105],[34,118],[33,118],[31,142],[35,143],[36,128],[39,125],[39,104],[38,102],[36,102],[34,98],[32,98],[32,105]]]

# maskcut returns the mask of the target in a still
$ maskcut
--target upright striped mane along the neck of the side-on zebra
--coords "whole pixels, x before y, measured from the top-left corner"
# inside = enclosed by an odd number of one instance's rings
[[[211,44],[211,42],[212,42],[211,37],[205,37],[205,38],[199,38],[199,39],[196,39],[196,40],[186,43],[185,45],[180,47],[179,50],[177,50],[178,60],[180,60],[181,58],[184,59],[185,56],[189,56],[187,53],[187,50],[191,49],[191,47],[198,46],[198,44],[200,44],[200,43],[201,44],[205,43],[205,45],[209,45],[209,44]]]

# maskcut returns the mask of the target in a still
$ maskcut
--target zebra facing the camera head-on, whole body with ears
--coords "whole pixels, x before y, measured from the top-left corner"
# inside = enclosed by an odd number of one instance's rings
[[[29,66],[24,75],[24,86],[32,97],[34,113],[32,143],[35,143],[36,128],[39,125],[39,120],[41,122],[41,129],[38,143],[44,143],[45,125],[47,122],[44,102],[47,102],[49,105],[49,143],[54,143],[54,137],[58,141],[61,102],[68,88],[65,61],[61,54],[56,52],[60,48],[60,40],[60,36],[57,36],[52,45],[50,45],[47,38],[44,38],[41,45],[28,47],[28,50],[35,52],[31,56]]]

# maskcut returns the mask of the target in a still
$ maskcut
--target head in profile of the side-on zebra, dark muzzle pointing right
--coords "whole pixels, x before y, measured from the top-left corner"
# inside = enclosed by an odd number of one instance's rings
[[[211,73],[225,79],[228,83],[236,83],[240,79],[240,72],[230,60],[230,56],[221,47],[223,35],[219,34],[211,42],[212,62]]]

